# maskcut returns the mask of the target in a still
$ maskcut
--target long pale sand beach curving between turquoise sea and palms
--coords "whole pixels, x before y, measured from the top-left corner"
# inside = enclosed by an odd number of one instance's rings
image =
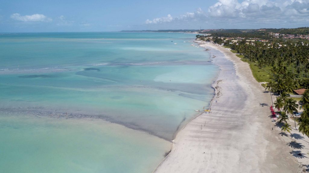
[[[293,148],[269,118],[270,94],[254,79],[248,63],[221,46],[200,46],[218,53],[213,58],[220,72],[211,113],[201,113],[179,131],[155,172],[299,172]]]

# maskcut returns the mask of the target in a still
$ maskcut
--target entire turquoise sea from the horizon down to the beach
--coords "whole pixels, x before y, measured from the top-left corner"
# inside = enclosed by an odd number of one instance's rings
[[[194,37],[0,34],[0,172],[153,171],[213,96]]]

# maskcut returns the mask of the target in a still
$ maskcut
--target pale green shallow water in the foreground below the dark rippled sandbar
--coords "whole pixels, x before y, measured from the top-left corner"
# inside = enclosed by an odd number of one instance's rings
[[[0,172],[152,172],[171,146],[102,121],[1,115],[0,131]]]

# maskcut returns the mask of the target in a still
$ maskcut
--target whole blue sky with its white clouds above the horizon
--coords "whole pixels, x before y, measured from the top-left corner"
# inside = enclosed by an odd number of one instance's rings
[[[0,32],[308,26],[309,0],[2,0]]]

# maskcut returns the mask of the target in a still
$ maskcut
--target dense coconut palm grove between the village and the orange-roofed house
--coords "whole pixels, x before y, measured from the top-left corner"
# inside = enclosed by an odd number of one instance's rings
[[[300,42],[282,43],[255,42],[253,44],[227,44],[237,50],[250,62],[255,62],[259,68],[270,67],[268,86],[274,92],[292,93],[299,88],[309,89],[309,46]]]

